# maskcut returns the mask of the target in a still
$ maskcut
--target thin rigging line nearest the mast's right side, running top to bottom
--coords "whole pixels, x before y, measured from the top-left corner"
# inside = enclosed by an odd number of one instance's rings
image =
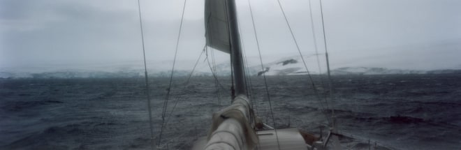
[[[259,40],[258,40],[258,35],[256,33],[256,26],[254,24],[253,10],[251,9],[251,3],[250,3],[249,0],[248,0],[248,6],[249,6],[249,10],[250,10],[250,15],[251,15],[251,24],[253,24],[254,38],[256,39],[256,46],[258,47],[258,54],[259,54],[259,61],[261,62],[261,69],[264,70],[263,57],[261,57],[261,49],[259,47]],[[268,80],[265,77],[265,73],[263,73],[263,78],[264,78],[265,92],[268,95],[268,101],[269,101],[270,114],[271,114],[271,117],[272,117],[272,123],[274,123],[274,131],[275,131],[275,137],[277,139],[277,147],[280,150],[279,135],[277,135],[277,127],[275,126],[274,112],[272,111],[272,103],[270,101]]]

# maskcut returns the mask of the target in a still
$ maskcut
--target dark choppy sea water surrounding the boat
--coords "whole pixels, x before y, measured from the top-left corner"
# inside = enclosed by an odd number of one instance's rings
[[[461,75],[268,77],[275,126],[320,134],[335,111],[342,147],[349,149],[461,149]],[[230,79],[174,80],[159,137],[168,78],[151,78],[156,141],[190,149],[207,135],[211,114],[230,103]],[[256,114],[273,125],[262,77],[251,77]],[[323,82],[321,82],[323,81]],[[217,91],[218,89],[218,91]],[[320,100],[319,100],[320,97]],[[173,110],[174,111],[171,112]],[[168,117],[170,116],[170,117]],[[142,78],[0,80],[0,149],[149,149]],[[168,119],[169,118],[169,119]],[[323,128],[323,136],[327,128]]]

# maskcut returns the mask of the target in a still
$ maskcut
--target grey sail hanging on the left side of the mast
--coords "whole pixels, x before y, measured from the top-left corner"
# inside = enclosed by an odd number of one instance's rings
[[[205,37],[207,46],[231,52],[225,0],[205,0]]]

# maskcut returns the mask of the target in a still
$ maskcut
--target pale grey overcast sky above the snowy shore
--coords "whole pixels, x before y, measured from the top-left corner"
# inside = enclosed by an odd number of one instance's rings
[[[309,1],[280,1],[302,53],[315,54]],[[461,1],[322,2],[332,68],[461,68]],[[140,3],[147,60],[172,61],[184,1]],[[197,59],[205,45],[203,3],[186,1],[180,60]],[[263,61],[297,55],[277,0],[251,0],[251,8]],[[318,0],[312,0],[312,8],[319,53],[324,53]],[[248,1],[237,0],[237,11],[244,50],[257,59]],[[2,0],[0,22],[0,68],[142,61],[136,0]],[[228,58],[221,52],[217,57]]]

